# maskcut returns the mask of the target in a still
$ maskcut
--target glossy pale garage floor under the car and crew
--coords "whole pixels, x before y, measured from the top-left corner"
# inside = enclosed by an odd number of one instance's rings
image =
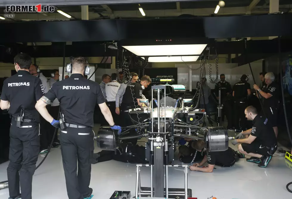
[[[234,134],[230,132],[230,134]],[[236,149],[229,142],[229,146]],[[100,149],[95,149],[98,152]],[[40,155],[38,163],[44,155]],[[37,164],[38,164],[37,163]],[[290,164],[291,169],[288,167]],[[7,180],[8,162],[0,164],[0,181]],[[286,184],[292,181],[292,163],[284,157],[273,156],[267,168],[240,159],[234,166],[223,168],[215,166],[213,173],[188,172],[188,188],[192,197],[207,199],[291,199],[292,193]],[[176,167],[177,168],[177,167]],[[131,191],[135,196],[135,164],[108,161],[92,165],[91,188],[95,199],[109,199],[115,190]],[[150,168],[141,169],[141,185],[150,187]],[[39,169],[35,171],[32,182],[33,199],[68,198],[62,157],[59,148],[52,149]],[[169,188],[184,188],[184,171],[169,169]],[[292,186],[291,186],[292,188]],[[8,198],[8,189],[0,190],[0,199]]]

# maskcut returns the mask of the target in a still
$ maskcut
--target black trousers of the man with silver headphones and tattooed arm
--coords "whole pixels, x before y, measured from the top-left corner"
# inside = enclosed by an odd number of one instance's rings
[[[69,199],[83,199],[91,195],[89,184],[94,150],[93,137],[92,128],[66,127],[60,131],[59,138]]]

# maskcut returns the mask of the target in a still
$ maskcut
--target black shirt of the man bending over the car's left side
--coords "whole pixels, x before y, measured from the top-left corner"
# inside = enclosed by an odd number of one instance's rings
[[[143,88],[140,83],[131,83],[126,87],[125,94],[123,96],[123,101],[121,104],[122,109],[127,109],[128,107],[135,108],[137,104],[137,99],[142,99]],[[134,98],[134,99],[133,99]]]

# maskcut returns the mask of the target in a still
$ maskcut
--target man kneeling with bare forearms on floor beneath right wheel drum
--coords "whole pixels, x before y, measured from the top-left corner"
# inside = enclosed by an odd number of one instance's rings
[[[198,140],[197,142],[194,142],[193,145],[193,148],[200,151],[202,154],[204,151],[206,151],[206,148],[204,148],[205,142],[203,140]],[[204,159],[201,161],[201,163],[193,164],[193,166],[190,166],[190,169],[192,171],[209,173],[213,172],[215,165],[230,167],[233,166],[239,158],[244,158],[244,155],[241,154],[239,151],[235,152],[232,148],[228,147],[226,151],[209,152],[207,155],[204,156]],[[201,166],[203,166],[206,162],[208,162],[208,166],[201,168]]]

